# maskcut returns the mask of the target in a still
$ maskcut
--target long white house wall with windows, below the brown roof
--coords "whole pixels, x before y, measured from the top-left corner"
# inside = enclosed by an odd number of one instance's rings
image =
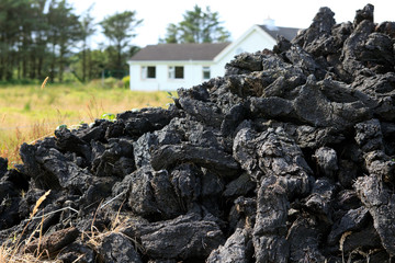
[[[144,66],[156,66],[155,79],[142,78]],[[184,78],[169,79],[170,66],[183,66]],[[212,61],[129,61],[131,90],[174,91],[179,88],[191,88],[204,81],[203,67],[206,66],[212,66]]]

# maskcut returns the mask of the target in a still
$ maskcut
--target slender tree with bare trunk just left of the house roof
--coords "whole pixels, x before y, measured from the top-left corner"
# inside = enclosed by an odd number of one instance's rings
[[[124,68],[122,53],[125,47],[131,46],[131,39],[136,36],[134,30],[143,20],[137,20],[135,11],[124,11],[105,18],[100,25],[103,27],[103,34],[110,39],[109,52],[115,52],[116,68]]]

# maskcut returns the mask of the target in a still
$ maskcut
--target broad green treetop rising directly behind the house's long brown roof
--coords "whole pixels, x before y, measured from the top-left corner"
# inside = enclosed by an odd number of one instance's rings
[[[198,4],[192,11],[183,14],[183,21],[178,25],[169,24],[165,43],[216,43],[229,39],[230,33],[222,26],[218,12],[205,11]]]

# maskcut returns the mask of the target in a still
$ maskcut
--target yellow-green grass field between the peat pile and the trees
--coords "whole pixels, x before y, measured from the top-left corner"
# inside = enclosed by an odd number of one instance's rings
[[[99,87],[99,85],[98,85]],[[0,87],[0,156],[9,165],[19,163],[22,142],[52,136],[57,126],[91,123],[105,113],[147,106],[166,107],[167,92],[103,89],[94,84],[46,84]]]

